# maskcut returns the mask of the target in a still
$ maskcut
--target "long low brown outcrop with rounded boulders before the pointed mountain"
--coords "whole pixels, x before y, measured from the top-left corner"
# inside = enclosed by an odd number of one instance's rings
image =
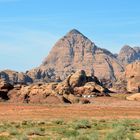
[[[109,96],[95,77],[81,70],[68,76],[63,82],[38,83],[16,87],[8,93],[10,102],[22,103],[78,103],[82,95]],[[83,100],[81,102],[84,102]]]

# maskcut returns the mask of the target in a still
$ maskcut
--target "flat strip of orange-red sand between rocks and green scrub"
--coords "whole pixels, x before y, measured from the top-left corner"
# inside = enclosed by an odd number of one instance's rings
[[[0,121],[52,119],[140,119],[140,102],[114,97],[91,99],[92,104],[31,105],[0,103]]]

